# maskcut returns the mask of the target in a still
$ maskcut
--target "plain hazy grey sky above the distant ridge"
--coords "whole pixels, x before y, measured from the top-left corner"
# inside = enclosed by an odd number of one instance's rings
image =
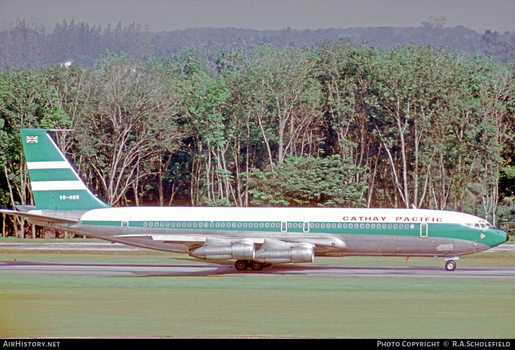
[[[446,27],[515,31],[515,0],[0,0],[2,29],[16,18],[49,28],[63,20],[102,28],[136,22],[151,31],[419,27],[430,16],[445,17]]]

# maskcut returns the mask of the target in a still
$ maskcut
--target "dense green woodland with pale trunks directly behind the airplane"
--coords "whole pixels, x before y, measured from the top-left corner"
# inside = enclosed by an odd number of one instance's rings
[[[447,209],[515,231],[511,61],[348,40],[190,46],[0,71],[0,207],[31,204],[20,128],[112,206]],[[3,216],[3,236],[42,236]]]

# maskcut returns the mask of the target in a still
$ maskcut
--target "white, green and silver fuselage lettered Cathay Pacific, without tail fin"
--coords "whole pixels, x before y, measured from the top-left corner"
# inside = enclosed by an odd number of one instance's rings
[[[249,240],[258,248],[265,239],[312,243],[315,256],[459,256],[507,240],[506,233],[478,217],[426,209],[126,207],[75,216],[78,223],[54,227],[181,253],[209,237]]]

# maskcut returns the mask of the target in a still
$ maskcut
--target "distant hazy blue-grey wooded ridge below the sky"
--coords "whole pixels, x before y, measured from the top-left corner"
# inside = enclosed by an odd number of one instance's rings
[[[16,22],[0,31],[0,69],[43,67],[67,60],[75,65],[93,66],[106,50],[131,59],[147,60],[181,55],[184,47],[197,47],[205,64],[213,71],[215,59],[227,49],[239,47],[251,58],[263,45],[279,49],[302,49],[324,41],[348,40],[361,47],[394,48],[428,45],[466,55],[484,55],[497,62],[515,59],[515,33],[485,30],[480,34],[463,26],[444,27],[445,18],[423,21],[420,27],[327,28],[253,30],[242,28],[188,28],[152,32],[149,25],[130,23],[105,28],[88,23],[58,22],[52,31]]]

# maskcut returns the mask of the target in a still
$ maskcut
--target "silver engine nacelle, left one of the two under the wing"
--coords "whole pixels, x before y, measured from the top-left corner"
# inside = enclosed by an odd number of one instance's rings
[[[190,250],[190,256],[207,260],[250,260],[254,258],[253,243],[233,243],[228,246],[202,246]]]

